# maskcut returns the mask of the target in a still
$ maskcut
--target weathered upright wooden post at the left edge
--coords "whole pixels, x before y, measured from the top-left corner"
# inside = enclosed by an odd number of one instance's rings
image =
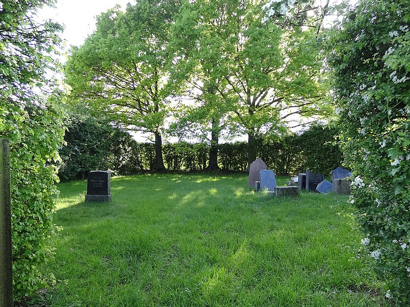
[[[0,307],[13,306],[9,143],[0,139]]]

